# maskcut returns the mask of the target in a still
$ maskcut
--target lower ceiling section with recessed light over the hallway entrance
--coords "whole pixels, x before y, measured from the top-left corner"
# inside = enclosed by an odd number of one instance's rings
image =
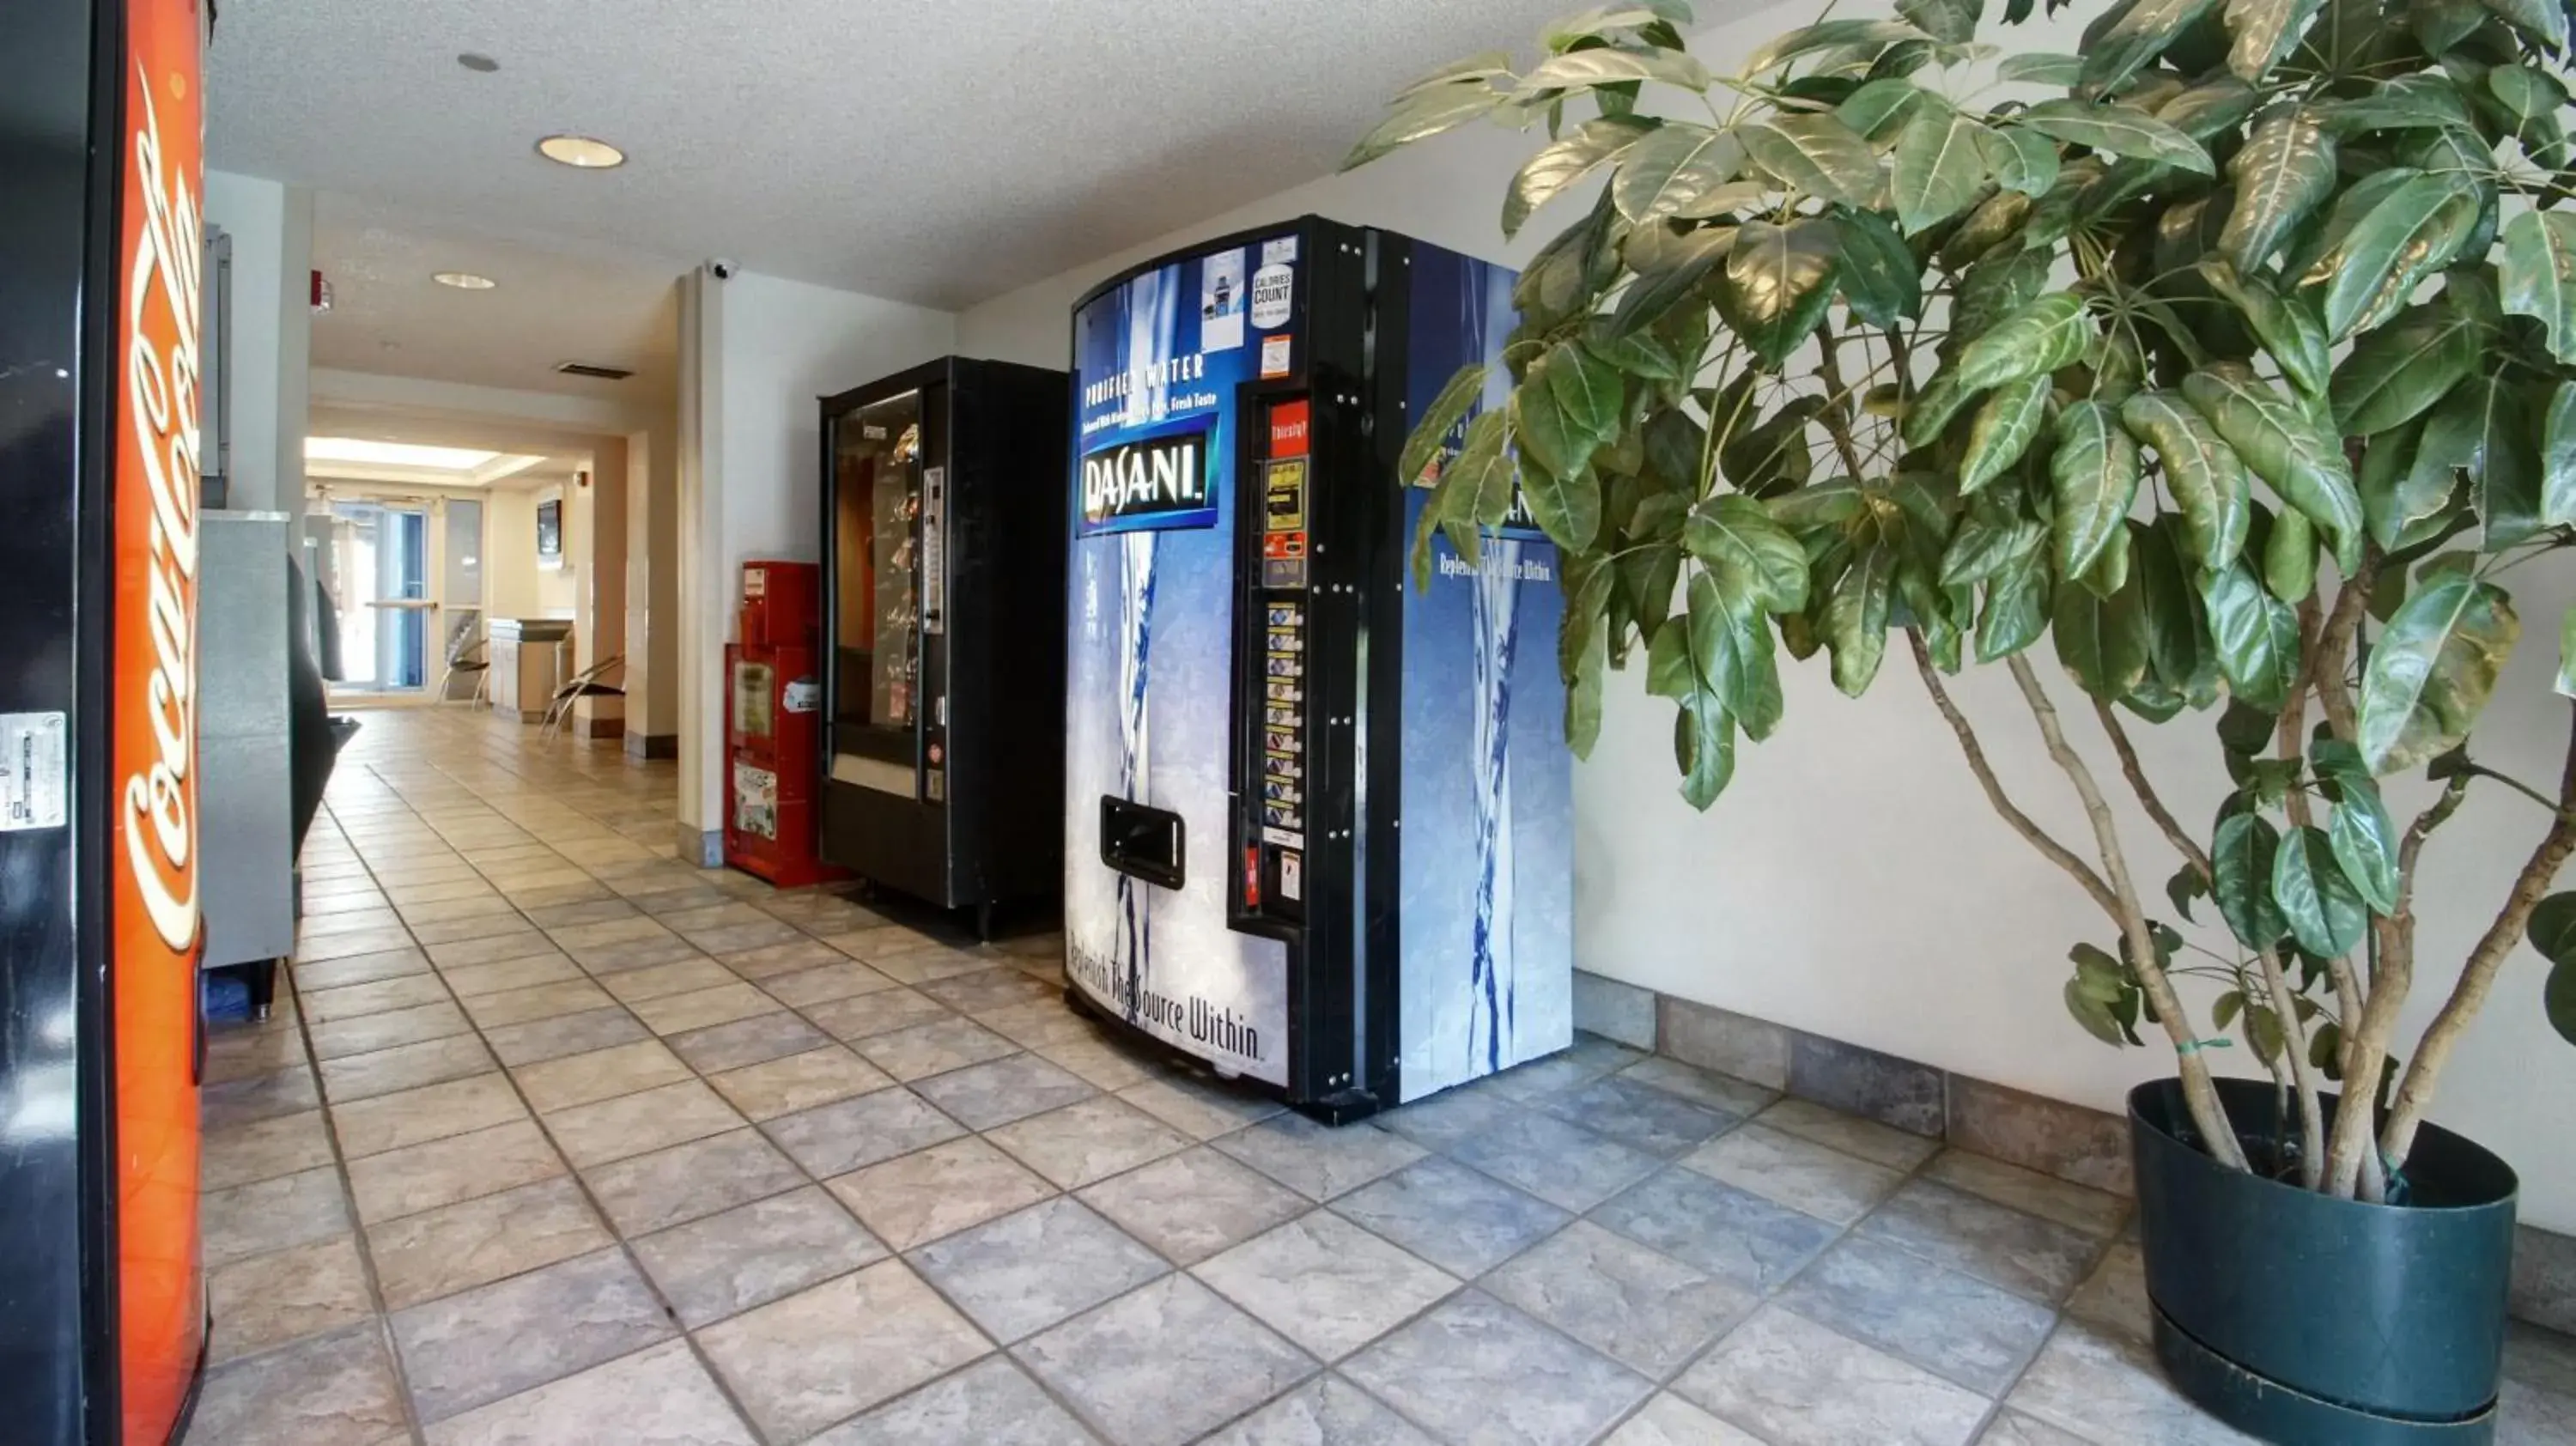
[[[677,260],[611,245],[497,240],[407,206],[325,191],[314,198],[314,265],[332,289],[332,309],[314,317],[314,366],[639,405],[670,400]],[[497,286],[459,291],[433,281],[440,271],[471,271]],[[562,376],[559,361],[623,366],[636,376]]]

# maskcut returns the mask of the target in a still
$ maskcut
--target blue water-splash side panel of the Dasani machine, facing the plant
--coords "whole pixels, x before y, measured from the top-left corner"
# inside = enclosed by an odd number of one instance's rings
[[[1512,273],[1414,247],[1406,394],[1422,415],[1515,325]],[[1404,544],[1427,490],[1406,497]],[[1432,541],[1432,583],[1404,595],[1404,1098],[1574,1041],[1574,760],[1556,673],[1556,546],[1507,528],[1468,564]],[[1461,843],[1466,843],[1461,848]]]

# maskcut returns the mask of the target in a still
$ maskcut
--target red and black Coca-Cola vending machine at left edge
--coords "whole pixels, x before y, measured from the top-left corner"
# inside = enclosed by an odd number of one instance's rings
[[[0,1438],[204,1369],[196,0],[0,13]]]

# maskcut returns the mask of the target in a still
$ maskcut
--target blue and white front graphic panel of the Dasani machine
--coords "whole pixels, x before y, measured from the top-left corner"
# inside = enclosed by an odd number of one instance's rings
[[[1064,941],[1074,987],[1105,1010],[1285,1085],[1285,946],[1226,928],[1234,394],[1265,340],[1273,356],[1293,345],[1283,317],[1247,302],[1255,263],[1293,265],[1278,245],[1172,260],[1074,317]],[[1100,861],[1103,796],[1185,820],[1180,889]]]

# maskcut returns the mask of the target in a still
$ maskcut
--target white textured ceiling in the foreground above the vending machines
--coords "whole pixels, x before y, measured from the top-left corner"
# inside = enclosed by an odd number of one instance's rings
[[[224,170],[456,232],[724,255],[966,307],[1311,180],[1391,88],[1473,49],[1525,49],[1566,8],[232,0],[209,57],[209,147]],[[533,152],[551,131],[631,160],[567,170]],[[319,361],[319,335],[314,348]]]

